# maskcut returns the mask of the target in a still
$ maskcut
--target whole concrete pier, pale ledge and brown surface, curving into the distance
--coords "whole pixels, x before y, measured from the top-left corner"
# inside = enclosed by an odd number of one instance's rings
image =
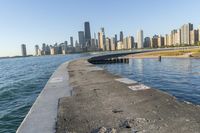
[[[198,133],[199,113],[199,107],[79,59],[62,64],[54,72],[17,133]]]

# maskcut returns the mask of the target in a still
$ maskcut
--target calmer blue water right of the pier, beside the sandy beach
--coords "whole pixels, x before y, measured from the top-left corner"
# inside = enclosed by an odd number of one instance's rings
[[[200,59],[130,59],[129,64],[99,66],[200,105]]]

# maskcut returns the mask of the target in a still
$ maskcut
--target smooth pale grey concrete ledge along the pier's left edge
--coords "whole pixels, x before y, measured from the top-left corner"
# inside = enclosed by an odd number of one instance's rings
[[[55,132],[58,100],[71,95],[67,66],[68,63],[62,64],[51,76],[17,133]]]

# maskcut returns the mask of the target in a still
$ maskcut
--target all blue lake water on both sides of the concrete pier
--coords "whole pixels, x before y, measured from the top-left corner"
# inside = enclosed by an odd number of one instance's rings
[[[0,60],[0,133],[14,133],[56,68],[89,56],[44,56]],[[130,59],[99,65],[109,72],[200,105],[200,59]]]

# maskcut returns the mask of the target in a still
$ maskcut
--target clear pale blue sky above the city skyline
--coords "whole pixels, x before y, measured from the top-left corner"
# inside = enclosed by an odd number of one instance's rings
[[[185,23],[200,25],[200,0],[0,0],[0,57],[28,54],[34,46],[78,39],[84,22],[91,33],[105,28],[106,36],[120,31],[135,37],[166,34]]]

